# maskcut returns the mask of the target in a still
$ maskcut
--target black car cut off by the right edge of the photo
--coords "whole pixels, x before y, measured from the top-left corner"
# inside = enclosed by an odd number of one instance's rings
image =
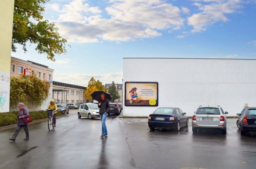
[[[256,131],[256,107],[244,107],[242,112],[236,115],[239,116],[236,125],[241,135],[245,135],[246,131]]]

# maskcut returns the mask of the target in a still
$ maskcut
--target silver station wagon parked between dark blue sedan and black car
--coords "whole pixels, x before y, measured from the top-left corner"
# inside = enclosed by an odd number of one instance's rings
[[[227,116],[228,112],[223,111],[220,106],[199,106],[192,117],[192,131],[197,129],[217,129],[222,134],[227,134]]]

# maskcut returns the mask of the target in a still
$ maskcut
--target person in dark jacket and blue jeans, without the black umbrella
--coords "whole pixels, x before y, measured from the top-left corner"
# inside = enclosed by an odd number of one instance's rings
[[[107,126],[106,126],[106,119],[108,115],[108,111],[110,108],[109,100],[106,99],[104,93],[100,95],[100,103],[98,105],[100,108],[100,119],[101,119],[101,136],[100,138],[104,138],[108,136]]]

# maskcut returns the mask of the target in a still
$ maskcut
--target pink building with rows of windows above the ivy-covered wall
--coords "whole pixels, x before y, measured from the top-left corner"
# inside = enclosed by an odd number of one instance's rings
[[[54,70],[48,68],[48,66],[36,62],[24,61],[15,57],[11,58],[11,77],[18,77],[24,72],[24,69],[29,70],[30,74],[35,73],[42,80],[52,81]]]

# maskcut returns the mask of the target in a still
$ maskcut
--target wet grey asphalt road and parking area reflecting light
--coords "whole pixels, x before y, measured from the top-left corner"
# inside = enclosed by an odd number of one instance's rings
[[[150,131],[147,119],[108,116],[108,137],[100,139],[100,119],[78,119],[77,110],[57,119],[0,133],[0,168],[256,168],[256,134],[240,136],[236,119],[228,119],[227,135],[206,130],[194,135],[188,128]]]

